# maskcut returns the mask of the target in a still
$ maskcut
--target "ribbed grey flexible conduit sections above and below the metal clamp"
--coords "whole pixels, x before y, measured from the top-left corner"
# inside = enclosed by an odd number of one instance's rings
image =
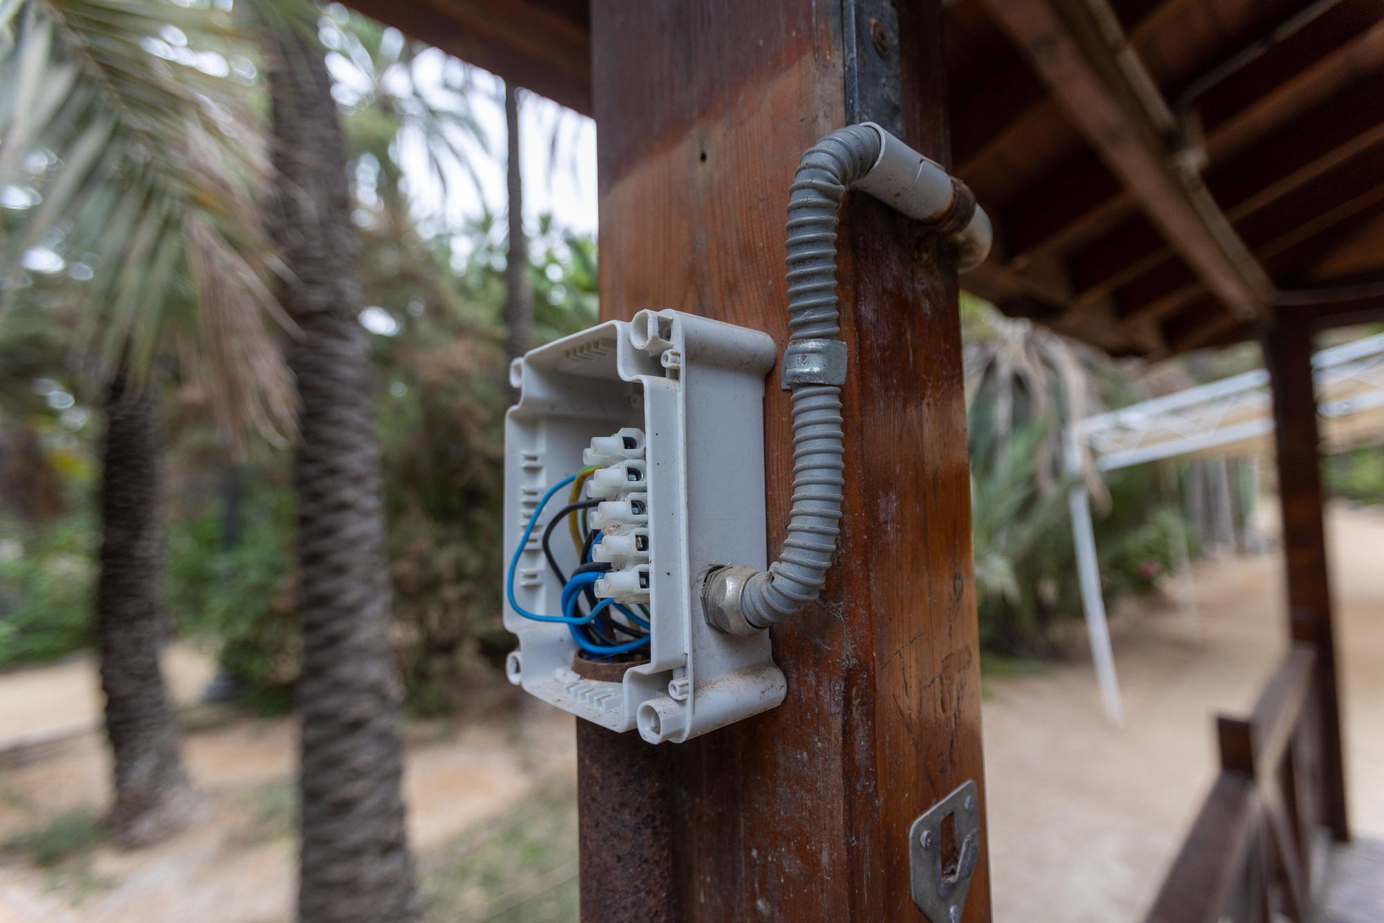
[[[836,340],[836,222],[846,188],[879,159],[880,136],[862,125],[832,132],[803,154],[787,198],[789,340]],[[801,384],[793,396],[793,509],[779,559],[740,596],[757,628],[817,599],[841,532],[846,485],[841,388]]]

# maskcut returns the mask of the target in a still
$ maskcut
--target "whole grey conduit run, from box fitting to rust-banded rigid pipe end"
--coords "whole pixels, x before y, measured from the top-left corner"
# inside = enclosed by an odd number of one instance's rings
[[[841,385],[846,344],[836,295],[836,223],[855,186],[958,245],[959,270],[990,252],[990,218],[966,186],[873,122],[832,132],[799,164],[787,201],[789,344],[783,387],[793,401],[793,498],[787,538],[767,571],[713,571],[702,585],[707,621],[746,635],[794,615],[822,592],[836,553],[846,486]]]

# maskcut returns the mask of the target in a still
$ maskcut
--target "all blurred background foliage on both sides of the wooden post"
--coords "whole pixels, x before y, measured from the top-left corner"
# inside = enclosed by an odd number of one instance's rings
[[[505,226],[458,225],[410,195],[400,151],[422,150],[443,188],[476,183],[489,151],[468,107],[473,72],[340,7],[320,36],[352,146],[353,220],[364,309],[378,367],[379,432],[390,521],[394,642],[414,714],[484,703],[512,646],[500,624]],[[417,80],[418,68],[429,72]],[[245,61],[242,76],[256,73]],[[44,166],[47,169],[47,166]],[[4,191],[4,190],[0,190]],[[0,231],[33,206],[12,190]],[[597,320],[597,251],[543,216],[530,229],[534,338]],[[83,369],[64,335],[89,294],[80,263],[35,265],[0,335],[0,667],[91,643],[97,534],[91,513],[95,427]],[[78,273],[78,274],[73,274]],[[1243,370],[1254,351],[1190,359],[1171,374],[1118,363],[963,298],[976,583],[990,651],[1056,656],[1081,615],[1067,520],[1062,425],[1102,409]],[[216,435],[205,385],[169,370],[163,385],[169,486],[166,599],[174,631],[217,651],[249,703],[282,710],[298,675],[292,611],[289,459],[237,460]],[[1160,377],[1161,376],[1161,377]],[[1376,449],[1333,459],[1329,482],[1384,500]],[[1153,592],[1174,549],[1200,539],[1183,500],[1194,467],[1140,466],[1081,477],[1096,502],[1109,601]],[[1255,485],[1246,493],[1253,495]],[[1239,503],[1248,517],[1248,504]]]

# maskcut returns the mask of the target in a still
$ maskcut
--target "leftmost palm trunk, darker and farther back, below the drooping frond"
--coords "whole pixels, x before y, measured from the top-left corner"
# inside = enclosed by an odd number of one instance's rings
[[[179,726],[159,671],[159,425],[154,401],[116,374],[105,398],[101,572],[95,622],[105,732],[115,757],[116,843],[148,845],[187,826],[198,798],[183,771]]]

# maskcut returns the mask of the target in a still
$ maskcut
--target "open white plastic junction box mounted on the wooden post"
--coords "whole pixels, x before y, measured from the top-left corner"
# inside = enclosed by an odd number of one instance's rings
[[[505,565],[540,499],[587,464],[602,466],[583,499],[601,529],[592,560],[612,565],[598,596],[649,613],[648,660],[627,669],[579,650],[566,624],[525,618],[509,680],[613,730],[682,741],[774,708],[783,674],[768,632],[740,638],[707,624],[700,588],[725,564],[765,567],[764,376],[768,335],[675,310],[641,310],[516,359],[519,402],[505,419]],[[642,445],[638,445],[642,439]],[[634,474],[631,474],[634,473]],[[567,489],[547,504],[519,554],[513,593],[530,613],[559,614],[562,585],[540,542]],[[565,574],[579,553],[558,524]],[[641,579],[642,578],[642,579]],[[646,585],[641,585],[646,583]],[[612,669],[613,668],[613,669]]]

